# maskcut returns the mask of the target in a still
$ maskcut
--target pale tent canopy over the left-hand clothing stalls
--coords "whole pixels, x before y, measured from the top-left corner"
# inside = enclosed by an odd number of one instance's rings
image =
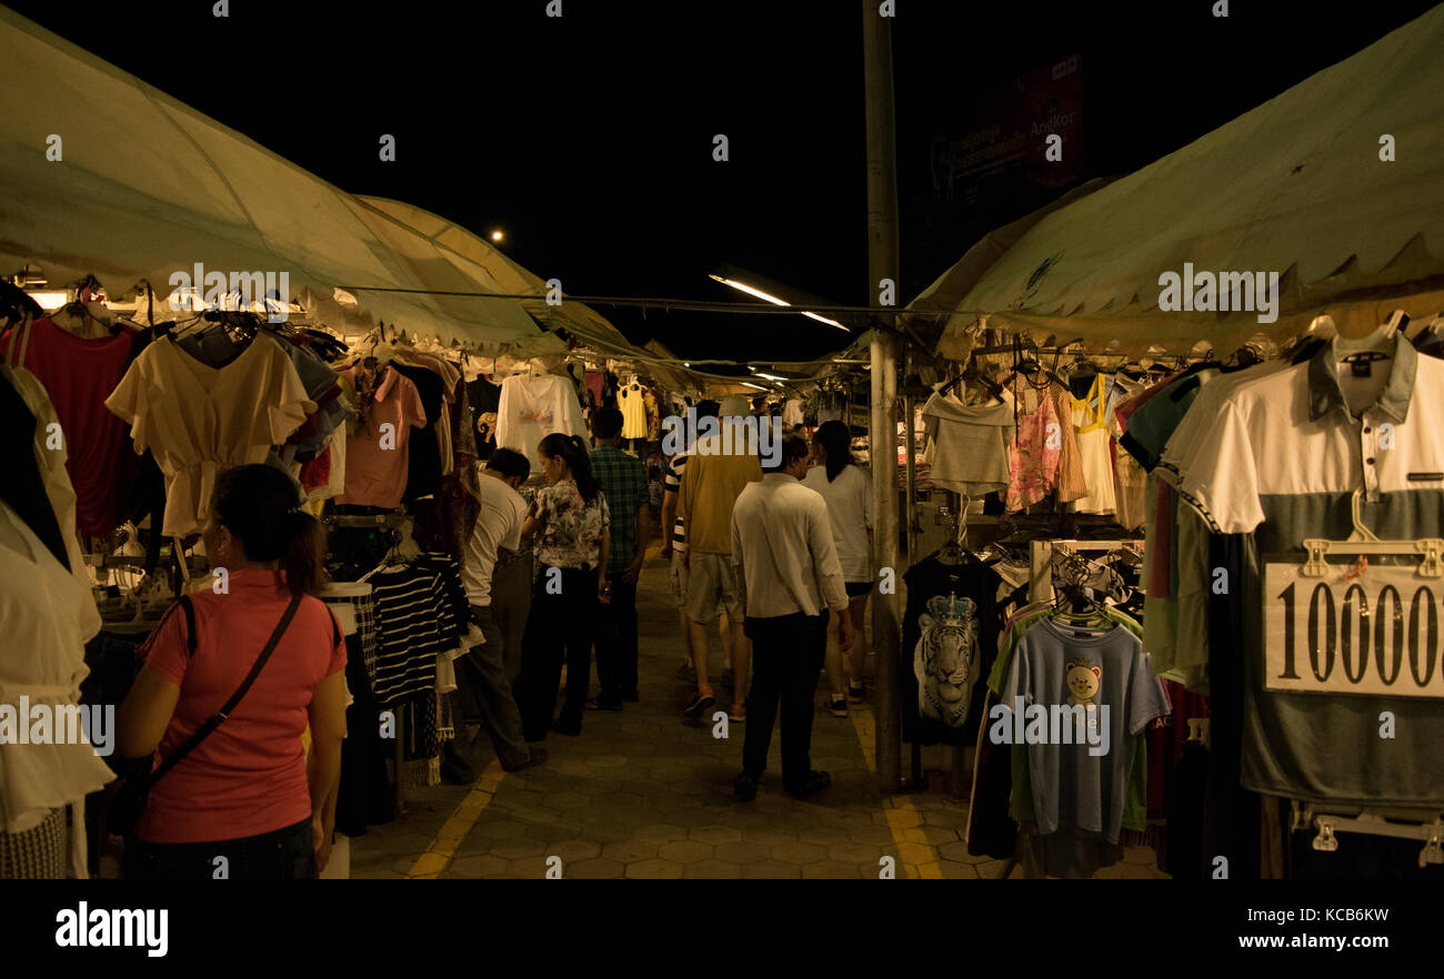
[[[347,326],[381,319],[492,351],[565,349],[516,300],[358,290],[360,309],[336,303],[336,286],[505,290],[482,266],[3,7],[0,48],[12,94],[0,263],[35,263],[52,284],[94,273],[113,295],[144,280],[160,297],[196,263],[227,277],[284,271],[292,299]]]

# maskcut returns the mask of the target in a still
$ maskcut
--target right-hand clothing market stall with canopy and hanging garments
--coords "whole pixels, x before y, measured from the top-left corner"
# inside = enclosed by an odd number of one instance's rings
[[[1437,9],[910,306],[910,518],[941,492],[949,524],[902,575],[904,738],[973,749],[969,852],[1005,872],[1444,862],[1441,42]],[[1089,748],[1028,726],[1053,703]]]

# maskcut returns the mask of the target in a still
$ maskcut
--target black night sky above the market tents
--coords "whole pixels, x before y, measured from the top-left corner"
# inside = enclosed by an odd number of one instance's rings
[[[560,19],[546,0],[231,0],[227,19],[212,0],[9,6],[345,191],[504,228],[504,250],[569,293],[747,299],[706,277],[729,263],[838,303],[875,299],[853,0],[563,0]],[[946,205],[934,191],[937,136],[986,126],[1018,75],[1079,56],[1071,185],[1138,169],[1432,4],[1230,0],[1227,19],[1212,6],[897,0],[901,302],[1061,192],[998,180]],[[394,163],[378,159],[383,133]],[[682,357],[846,344],[801,316],[598,310]]]

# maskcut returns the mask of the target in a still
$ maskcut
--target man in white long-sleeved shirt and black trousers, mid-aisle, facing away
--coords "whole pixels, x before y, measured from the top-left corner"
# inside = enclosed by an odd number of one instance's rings
[[[829,614],[840,648],[852,648],[852,619],[827,504],[799,482],[807,474],[807,442],[783,438],[732,508],[732,563],[741,576],[747,635],[752,641],[741,801],[757,797],[767,768],[778,702],[783,713],[783,784],[796,796],[820,791],[832,775],[812,770],[812,719],[817,676],[827,647]]]

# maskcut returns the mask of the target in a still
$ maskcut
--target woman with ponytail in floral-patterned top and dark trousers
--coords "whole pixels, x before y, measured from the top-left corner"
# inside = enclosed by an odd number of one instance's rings
[[[575,435],[542,439],[537,455],[547,485],[531,504],[521,537],[537,539],[540,565],[521,640],[516,696],[527,741],[546,739],[566,661],[566,702],[556,731],[582,734],[592,673],[596,605],[606,596],[611,510],[592,475],[586,443]]]

